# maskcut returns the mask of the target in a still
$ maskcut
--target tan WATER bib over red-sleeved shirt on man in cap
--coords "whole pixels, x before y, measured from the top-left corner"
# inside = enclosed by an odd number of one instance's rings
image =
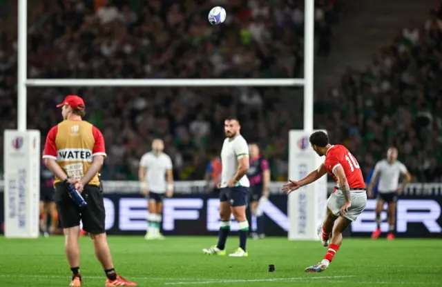
[[[43,158],[55,159],[70,178],[81,179],[96,155],[106,157],[104,138],[102,132],[87,121],[62,121],[52,127],[46,137]],[[56,177],[54,184],[59,182]],[[99,186],[98,174],[88,184]]]

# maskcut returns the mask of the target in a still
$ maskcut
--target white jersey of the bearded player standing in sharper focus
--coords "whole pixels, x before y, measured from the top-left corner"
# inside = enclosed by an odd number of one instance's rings
[[[221,188],[225,188],[227,183],[233,178],[238,170],[238,157],[246,156],[249,157],[249,146],[247,141],[242,137],[242,135],[237,135],[233,139],[224,139],[221,150]],[[249,187],[249,179],[247,175],[244,175],[238,181],[236,186],[246,186]]]

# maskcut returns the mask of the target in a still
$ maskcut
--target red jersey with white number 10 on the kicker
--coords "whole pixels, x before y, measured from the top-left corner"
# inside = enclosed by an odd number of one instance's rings
[[[325,154],[324,166],[327,168],[327,172],[329,172],[329,175],[333,177],[336,183],[338,182],[338,179],[336,179],[333,172],[335,168],[342,166],[345,172],[345,177],[347,177],[349,188],[365,188],[361,167],[356,158],[351,152],[349,152],[349,150],[347,150],[347,148],[345,148],[345,146],[337,144],[336,146],[329,148]]]

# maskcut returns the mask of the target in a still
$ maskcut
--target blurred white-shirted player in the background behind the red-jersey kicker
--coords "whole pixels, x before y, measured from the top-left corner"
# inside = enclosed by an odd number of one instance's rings
[[[381,212],[384,203],[387,202],[388,209],[388,234],[387,239],[394,239],[394,226],[396,225],[396,201],[412,176],[407,168],[397,160],[398,150],[389,148],[387,150],[387,159],[378,161],[374,166],[372,181],[368,186],[368,196],[373,197],[373,186],[379,179],[378,197],[376,200],[376,225],[377,228],[372,234],[372,239],[377,239],[381,235]],[[401,186],[398,186],[399,177],[405,175],[405,180]]]

